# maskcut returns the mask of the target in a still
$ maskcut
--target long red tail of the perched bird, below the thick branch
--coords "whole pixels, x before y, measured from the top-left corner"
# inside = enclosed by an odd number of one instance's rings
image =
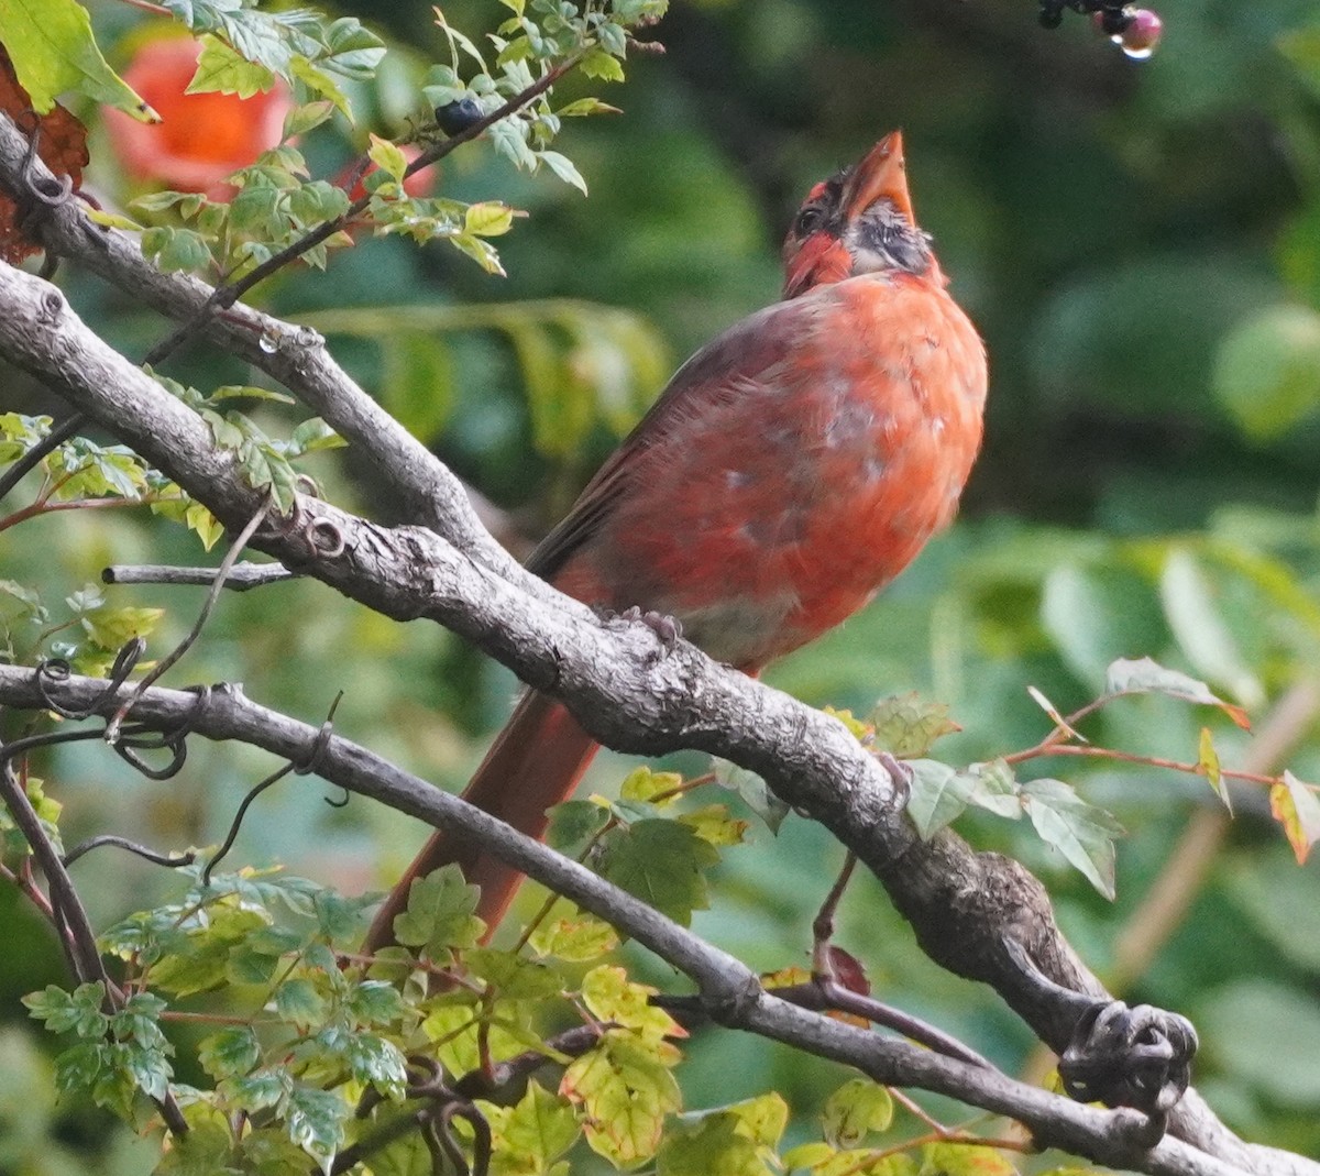
[[[528,692],[463,789],[463,800],[540,839],[548,824],[545,810],[572,795],[599,750],[601,744],[564,706]],[[408,905],[412,880],[450,862],[457,862],[463,876],[482,888],[477,915],[487,927],[499,924],[523,875],[461,837],[438,829],[376,913],[364,944],[367,952],[395,941],[395,916]]]

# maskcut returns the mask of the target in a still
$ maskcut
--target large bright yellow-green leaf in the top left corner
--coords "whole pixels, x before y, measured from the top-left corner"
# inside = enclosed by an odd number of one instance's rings
[[[38,115],[48,114],[58,95],[77,90],[140,123],[160,121],[106,63],[87,9],[75,0],[3,0],[0,38]]]

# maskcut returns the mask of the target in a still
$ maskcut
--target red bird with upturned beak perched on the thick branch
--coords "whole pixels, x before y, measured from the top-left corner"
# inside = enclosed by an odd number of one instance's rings
[[[898,132],[816,185],[784,301],[689,359],[528,568],[601,608],[676,618],[747,673],[833,628],[953,517],[981,443],[986,356],[916,227]],[[463,797],[540,837],[599,744],[528,693]],[[387,899],[450,862],[494,927],[520,875],[437,832]]]

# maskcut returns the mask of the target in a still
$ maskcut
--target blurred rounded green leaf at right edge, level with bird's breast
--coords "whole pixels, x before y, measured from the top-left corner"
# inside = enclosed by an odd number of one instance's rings
[[[1270,306],[1220,344],[1214,393],[1257,443],[1278,441],[1320,409],[1320,313]]]

